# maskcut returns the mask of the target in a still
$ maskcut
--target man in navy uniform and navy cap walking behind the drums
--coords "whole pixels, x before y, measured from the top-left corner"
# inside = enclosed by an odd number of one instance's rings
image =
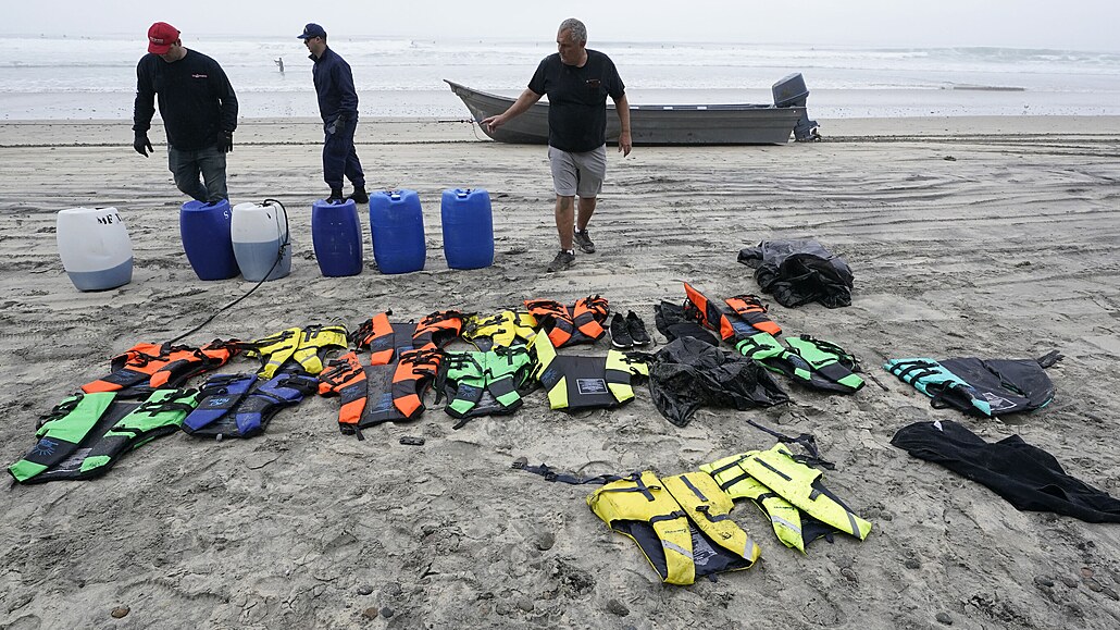
[[[304,27],[299,38],[311,53],[315,62],[311,75],[315,91],[319,95],[319,113],[323,115],[326,138],[323,142],[323,178],[330,186],[330,203],[342,203],[343,176],[354,185],[349,198],[356,203],[370,203],[365,192],[365,173],[354,150],[354,132],[357,130],[357,91],[354,90],[354,74],[346,59],[327,47],[327,31],[317,24]]]

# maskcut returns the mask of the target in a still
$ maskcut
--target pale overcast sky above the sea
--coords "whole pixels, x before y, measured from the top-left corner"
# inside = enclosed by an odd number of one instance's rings
[[[1008,46],[1120,52],[1117,0],[4,0],[6,36],[137,34],[172,24],[184,39],[290,36],[535,39],[563,18],[595,41],[793,43],[819,46]],[[317,6],[316,6],[317,4]]]

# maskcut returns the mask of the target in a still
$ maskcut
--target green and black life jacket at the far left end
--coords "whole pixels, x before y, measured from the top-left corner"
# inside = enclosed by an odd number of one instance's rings
[[[112,391],[72,396],[43,418],[38,442],[8,472],[19,483],[103,474],[124,453],[179,430],[197,404],[193,389],[157,389],[142,402]]]

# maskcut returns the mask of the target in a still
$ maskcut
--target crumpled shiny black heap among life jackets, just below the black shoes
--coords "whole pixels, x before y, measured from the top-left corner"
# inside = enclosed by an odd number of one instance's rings
[[[741,411],[790,401],[769,372],[754,361],[689,336],[654,353],[650,393],[661,415],[681,427],[704,406]]]

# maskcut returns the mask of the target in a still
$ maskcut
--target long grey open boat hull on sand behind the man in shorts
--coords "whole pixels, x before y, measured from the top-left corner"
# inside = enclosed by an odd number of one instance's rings
[[[479,92],[444,80],[470,110],[476,122],[500,114],[515,99]],[[808,92],[805,92],[808,94]],[[804,100],[802,99],[802,103]],[[607,142],[618,140],[618,117],[607,103]],[[631,104],[631,137],[635,145],[784,145],[794,126],[806,119],[804,106],[762,104],[635,105]],[[815,123],[813,123],[815,127]],[[480,126],[498,142],[544,145],[549,140],[549,105],[542,100],[496,130]],[[799,132],[799,140],[801,133]]]

